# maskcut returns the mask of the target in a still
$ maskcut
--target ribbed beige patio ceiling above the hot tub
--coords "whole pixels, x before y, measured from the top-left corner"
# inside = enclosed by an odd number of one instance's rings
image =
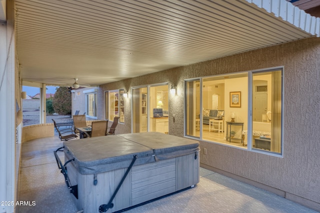
[[[248,1],[15,0],[22,78],[99,85],[316,34]]]

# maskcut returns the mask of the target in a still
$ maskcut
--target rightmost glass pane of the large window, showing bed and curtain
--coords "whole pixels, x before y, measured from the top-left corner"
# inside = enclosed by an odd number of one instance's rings
[[[282,70],[252,74],[252,148],[281,153]]]

